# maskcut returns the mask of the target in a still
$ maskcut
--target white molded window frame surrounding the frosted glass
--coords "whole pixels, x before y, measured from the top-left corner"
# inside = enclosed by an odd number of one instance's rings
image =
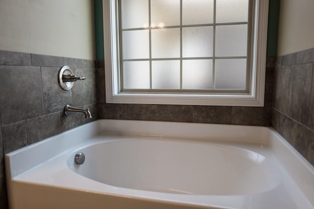
[[[119,92],[115,0],[103,0],[106,103],[212,106],[264,106],[268,0],[256,0],[250,93],[184,94]]]

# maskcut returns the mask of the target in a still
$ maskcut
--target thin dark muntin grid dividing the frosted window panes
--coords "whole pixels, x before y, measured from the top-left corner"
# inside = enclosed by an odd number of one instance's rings
[[[119,70],[121,73],[120,79],[120,91],[121,92],[127,92],[127,93],[169,93],[169,92],[176,92],[176,93],[249,93],[250,86],[251,86],[251,53],[252,53],[252,48],[251,48],[251,38],[253,35],[252,31],[252,23],[253,23],[253,0],[248,0],[248,21],[247,22],[231,22],[231,23],[216,23],[216,0],[213,0],[213,23],[207,23],[207,24],[188,24],[188,25],[183,25],[182,20],[183,20],[183,0],[180,0],[180,25],[170,25],[170,26],[164,26],[164,29],[167,28],[180,28],[180,58],[152,58],[152,36],[151,36],[151,31],[155,29],[160,29],[157,26],[156,27],[151,27],[151,0],[149,1],[149,26],[148,28],[145,27],[140,27],[140,28],[124,28],[122,29],[122,18],[120,19],[120,25],[118,26],[119,28],[119,40],[120,40],[120,69]],[[122,6],[121,6],[121,0],[118,0],[118,15],[121,17],[122,16]],[[247,25],[247,51],[246,51],[246,56],[226,56],[226,57],[215,57],[215,28],[216,26],[219,25],[240,25],[240,24],[246,24]],[[202,26],[213,26],[213,56],[212,57],[184,57],[183,58],[183,49],[182,49],[182,30],[183,27],[202,27]],[[130,30],[149,30],[149,59],[123,59],[123,55],[121,53],[122,51],[122,33],[123,31],[130,31]],[[182,89],[182,61],[183,60],[197,60],[197,59],[211,59],[213,63],[213,69],[212,69],[212,89],[207,89],[207,90],[202,90],[202,89],[197,89],[197,90],[190,90],[190,89]],[[245,90],[236,90],[236,89],[215,89],[215,59],[246,59],[246,89]],[[152,89],[152,61],[166,61],[166,60],[180,60],[180,89]],[[150,62],[150,89],[124,89],[123,88],[123,62],[125,61],[149,61]]]

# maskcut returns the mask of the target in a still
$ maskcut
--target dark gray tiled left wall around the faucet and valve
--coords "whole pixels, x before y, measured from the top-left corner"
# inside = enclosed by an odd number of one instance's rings
[[[68,65],[86,80],[71,91],[57,81]],[[7,208],[3,156],[98,118],[95,60],[0,51],[0,208]],[[104,86],[104,85],[101,85]],[[93,118],[64,116],[66,104],[90,108]]]

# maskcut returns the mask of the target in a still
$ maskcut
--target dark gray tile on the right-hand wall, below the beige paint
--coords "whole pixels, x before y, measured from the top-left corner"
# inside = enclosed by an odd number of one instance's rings
[[[314,48],[278,57],[272,124],[314,165]]]

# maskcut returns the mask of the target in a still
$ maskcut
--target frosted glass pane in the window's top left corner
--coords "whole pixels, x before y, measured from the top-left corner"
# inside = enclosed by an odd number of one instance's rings
[[[148,0],[121,0],[122,28],[148,26]]]

